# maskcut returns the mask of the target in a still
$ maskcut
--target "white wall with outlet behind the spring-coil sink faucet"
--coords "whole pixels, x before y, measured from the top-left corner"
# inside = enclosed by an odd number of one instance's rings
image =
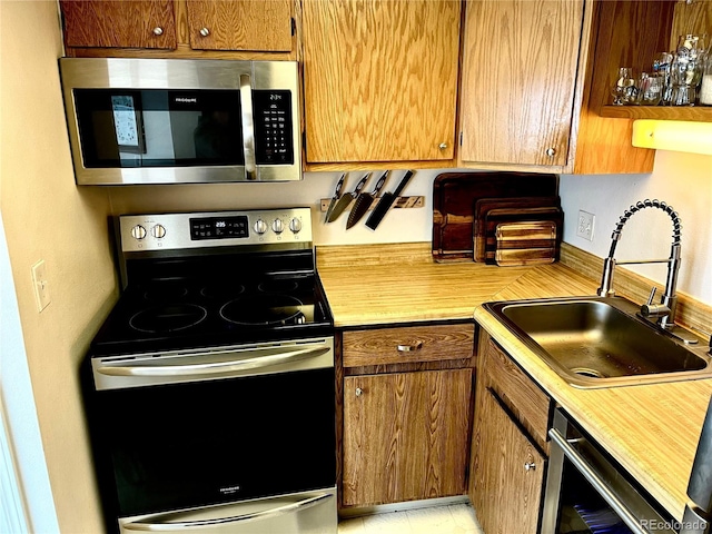
[[[564,240],[600,257],[626,208],[639,200],[664,200],[682,220],[682,264],[678,288],[712,304],[712,156],[659,150],[651,175],[563,176]],[[593,241],[576,236],[578,210],[595,215]],[[670,257],[672,224],[660,209],[646,208],[625,224],[616,259]],[[666,266],[626,266],[664,283]],[[710,325],[712,330],[712,324]]]

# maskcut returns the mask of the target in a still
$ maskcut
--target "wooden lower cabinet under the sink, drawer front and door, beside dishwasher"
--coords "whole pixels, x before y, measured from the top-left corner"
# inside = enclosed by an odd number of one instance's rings
[[[553,403],[486,333],[478,346],[469,498],[485,534],[536,534]]]

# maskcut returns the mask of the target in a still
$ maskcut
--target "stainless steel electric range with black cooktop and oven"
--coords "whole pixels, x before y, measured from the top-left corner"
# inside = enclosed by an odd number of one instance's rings
[[[107,527],[335,533],[333,319],[308,208],[121,216],[85,366]]]

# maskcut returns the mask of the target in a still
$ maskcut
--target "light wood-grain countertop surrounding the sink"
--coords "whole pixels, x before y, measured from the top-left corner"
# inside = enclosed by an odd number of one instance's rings
[[[682,520],[712,379],[576,388],[481,306],[491,300],[594,295],[596,280],[561,263],[436,264],[429,244],[317,248],[317,268],[337,327],[472,319],[474,314],[543,389],[675,520]]]

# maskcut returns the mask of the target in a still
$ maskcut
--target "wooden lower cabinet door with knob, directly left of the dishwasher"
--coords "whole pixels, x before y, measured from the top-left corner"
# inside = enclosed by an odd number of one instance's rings
[[[471,495],[485,534],[536,534],[545,458],[490,389],[481,389]]]

